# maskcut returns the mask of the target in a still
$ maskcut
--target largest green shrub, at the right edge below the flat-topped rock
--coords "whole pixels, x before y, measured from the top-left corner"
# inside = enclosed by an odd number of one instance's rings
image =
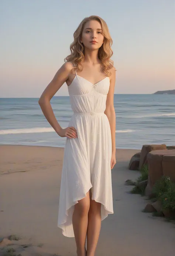
[[[175,211],[175,183],[167,176],[157,180],[152,188],[157,200],[161,201],[162,209]]]

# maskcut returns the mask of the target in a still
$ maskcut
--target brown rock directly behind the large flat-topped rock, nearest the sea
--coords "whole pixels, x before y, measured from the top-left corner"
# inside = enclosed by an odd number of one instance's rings
[[[147,154],[149,152],[151,152],[152,150],[163,150],[163,149],[167,149],[167,146],[165,144],[143,145],[140,153],[139,170],[141,170],[144,164],[147,164]]]

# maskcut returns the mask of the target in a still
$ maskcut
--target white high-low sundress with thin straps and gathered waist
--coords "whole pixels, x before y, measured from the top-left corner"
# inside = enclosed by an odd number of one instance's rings
[[[74,205],[90,188],[92,200],[101,203],[102,221],[113,214],[111,131],[104,114],[109,86],[108,76],[92,84],[77,74],[68,86],[74,112],[68,126],[75,127],[78,138],[66,137],[64,149],[58,209],[58,227],[64,236],[75,236]]]

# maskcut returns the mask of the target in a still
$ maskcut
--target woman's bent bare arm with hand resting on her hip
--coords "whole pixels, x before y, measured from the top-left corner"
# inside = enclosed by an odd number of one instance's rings
[[[55,93],[61,88],[61,86],[69,78],[69,74],[72,70],[72,64],[70,62],[64,63],[61,68],[56,72],[52,81],[45,88],[42,93],[38,103],[41,107],[41,110],[48,120],[49,124],[54,128],[55,132],[61,137],[68,137],[70,139],[77,137],[77,132],[74,127],[67,127],[62,129],[59,123],[56,120],[53,109],[51,107],[50,100],[55,95]]]

